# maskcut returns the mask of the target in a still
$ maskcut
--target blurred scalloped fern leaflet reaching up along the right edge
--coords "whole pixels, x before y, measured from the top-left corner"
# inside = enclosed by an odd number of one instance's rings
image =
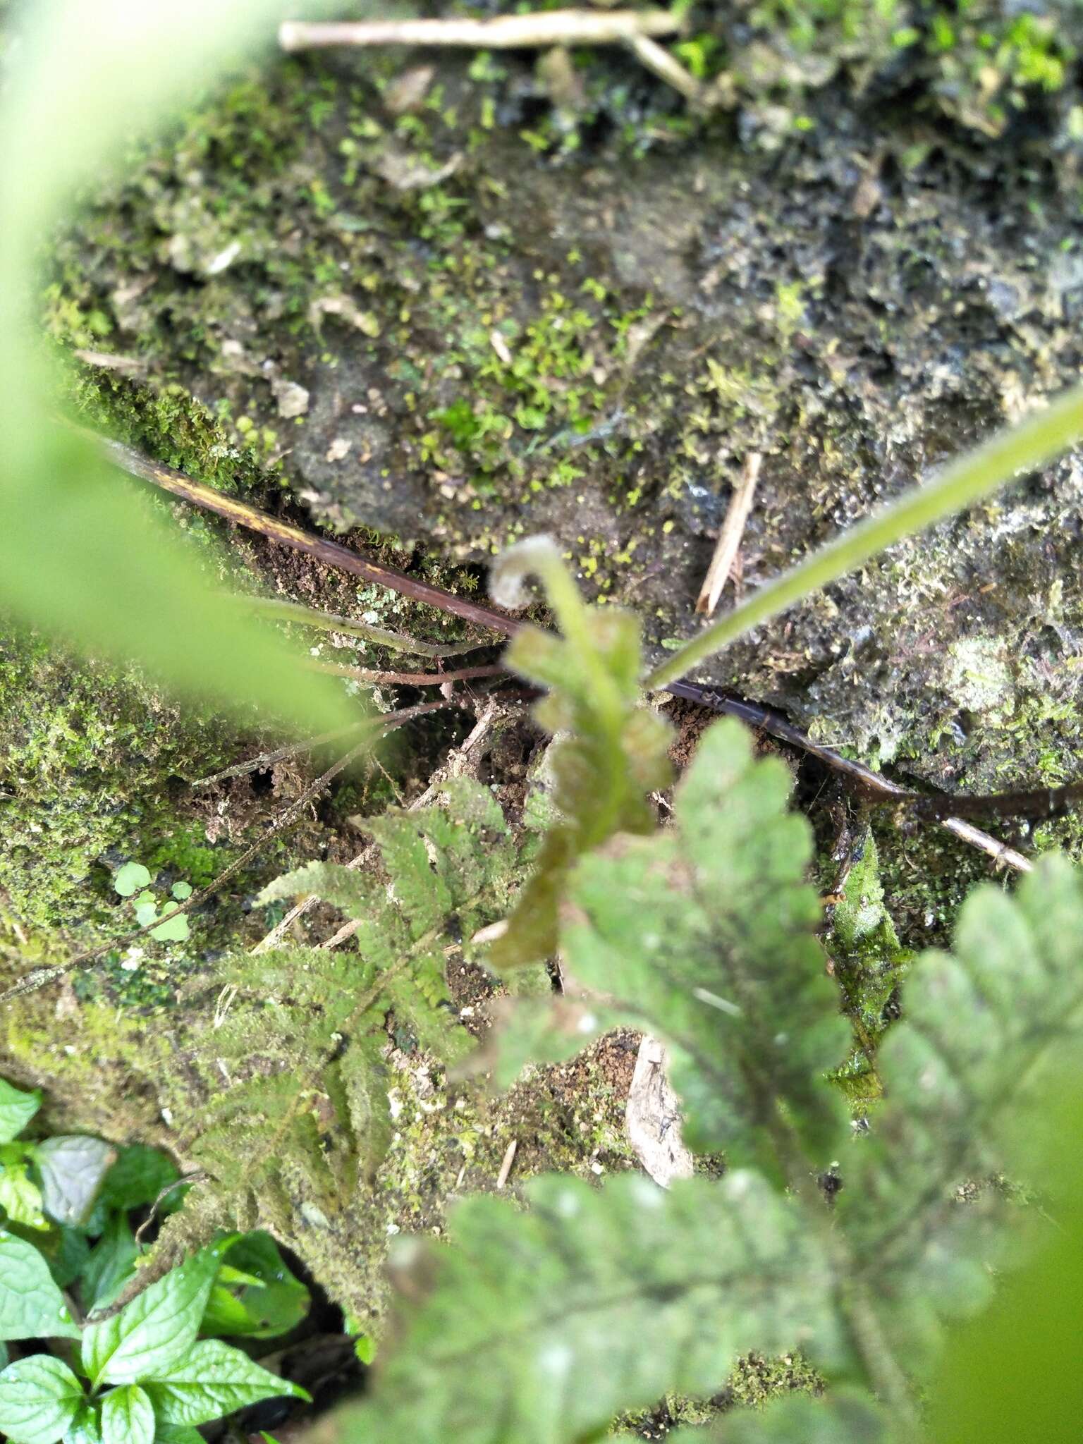
[[[976,890],[953,952],[924,953],[902,1001],[878,1054],[887,1102],[845,1165],[838,1214],[881,1327],[913,1366],[928,1360],[937,1315],[988,1300],[1012,1238],[1001,1190],[960,1207],[957,1187],[1035,1165],[1041,1178],[1043,1155],[1063,1147],[1047,1090],[1083,1071],[1080,872],[1044,858],[1014,898]]]

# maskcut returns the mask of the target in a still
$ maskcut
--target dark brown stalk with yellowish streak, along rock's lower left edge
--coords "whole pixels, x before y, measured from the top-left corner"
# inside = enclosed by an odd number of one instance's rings
[[[358,556],[357,552],[351,552],[338,542],[329,542],[325,537],[313,536],[310,531],[302,531],[300,527],[292,527],[289,523],[279,521],[277,517],[271,517],[266,511],[245,505],[237,497],[227,497],[212,487],[204,487],[202,482],[192,481],[182,471],[175,471],[172,466],[162,466],[159,462],[140,456],[139,452],[130,446],[124,446],[121,442],[103,440],[101,445],[110,458],[133,477],[150,481],[156,487],[162,487],[163,491],[172,491],[175,497],[182,497],[185,501],[191,501],[205,511],[215,511],[219,517],[225,517],[227,521],[235,521],[238,526],[248,527],[250,531],[258,531],[260,536],[269,537],[271,542],[279,542],[295,552],[306,552],[328,566],[336,566],[341,572],[362,576],[367,582],[375,582],[377,586],[387,586],[401,596],[412,598],[414,602],[426,602],[442,612],[453,612],[456,617],[462,617],[464,621],[474,622],[477,627],[488,627],[490,631],[500,632],[503,637],[511,637],[518,631],[518,621],[514,617],[508,617],[507,612],[497,611],[495,606],[471,602],[465,596],[446,592],[442,586],[433,586],[430,582],[420,582],[414,576],[396,572],[393,566],[381,566],[378,562],[370,562],[368,557]]]

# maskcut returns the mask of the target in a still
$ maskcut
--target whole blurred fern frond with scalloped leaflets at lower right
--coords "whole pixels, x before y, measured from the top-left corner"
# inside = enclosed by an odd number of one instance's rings
[[[673,829],[582,858],[562,927],[569,973],[606,995],[602,1022],[669,1040],[693,1141],[748,1167],[669,1193],[540,1180],[526,1214],[464,1204],[456,1245],[412,1245],[404,1343],[358,1415],[367,1437],[409,1421],[420,1441],[582,1440],[666,1389],[718,1392],[735,1354],[781,1337],[868,1402],[794,1402],[734,1438],[804,1437],[786,1434],[794,1419],[812,1438],[882,1438],[872,1395],[913,1437],[910,1379],[1006,1256],[1004,1190],[966,1206],[956,1190],[1032,1162],[1051,1070],[1083,1063],[1083,882],[1050,859],[1017,901],[967,901],[956,953],[907,979],[872,1136],[849,1138],[826,1076],[846,1030],[812,939],[807,826],[784,801],[778,764],[716,723]],[[829,1164],[833,1204],[816,1183]]]

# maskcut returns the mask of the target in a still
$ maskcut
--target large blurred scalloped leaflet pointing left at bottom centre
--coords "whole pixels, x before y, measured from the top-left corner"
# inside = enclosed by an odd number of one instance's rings
[[[667,1391],[716,1393],[749,1350],[832,1347],[822,1235],[755,1174],[669,1191],[632,1174],[601,1188],[543,1177],[526,1191],[526,1213],[459,1204],[451,1248],[407,1245],[397,1271],[423,1301],[344,1437],[582,1440]]]

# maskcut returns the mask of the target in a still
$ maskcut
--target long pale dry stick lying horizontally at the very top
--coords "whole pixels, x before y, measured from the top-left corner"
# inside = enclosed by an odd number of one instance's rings
[[[455,45],[478,51],[536,49],[549,45],[615,45],[637,35],[673,35],[669,10],[546,10],[497,14],[484,20],[286,20],[279,27],[283,51],[336,45]]]

